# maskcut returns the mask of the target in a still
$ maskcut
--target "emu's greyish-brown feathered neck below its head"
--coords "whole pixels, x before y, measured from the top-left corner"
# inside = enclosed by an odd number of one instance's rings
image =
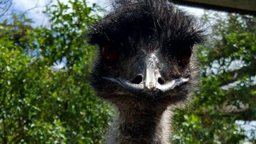
[[[119,107],[108,143],[170,143],[170,118],[163,108]]]

